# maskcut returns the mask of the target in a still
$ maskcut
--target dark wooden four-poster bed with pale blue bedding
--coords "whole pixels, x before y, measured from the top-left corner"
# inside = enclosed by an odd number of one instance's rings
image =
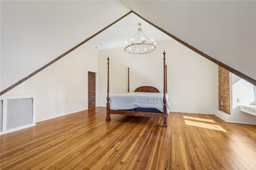
[[[163,118],[163,127],[167,127],[166,114],[169,113],[170,104],[167,94],[167,66],[165,64],[164,51],[164,92],[150,86],[138,87],[134,92],[129,92],[129,67],[128,67],[128,93],[115,94],[109,97],[109,57],[108,57],[108,94],[107,117],[110,114],[130,115],[140,117]]]

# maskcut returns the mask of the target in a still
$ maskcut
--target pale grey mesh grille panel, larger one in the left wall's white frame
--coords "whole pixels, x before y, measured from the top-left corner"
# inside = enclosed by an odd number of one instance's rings
[[[6,130],[30,125],[33,123],[33,99],[7,100]]]

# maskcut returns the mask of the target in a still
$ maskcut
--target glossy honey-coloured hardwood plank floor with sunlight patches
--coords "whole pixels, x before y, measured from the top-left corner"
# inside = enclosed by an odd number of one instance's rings
[[[0,136],[1,170],[256,170],[256,126],[214,115],[162,119],[88,110]]]

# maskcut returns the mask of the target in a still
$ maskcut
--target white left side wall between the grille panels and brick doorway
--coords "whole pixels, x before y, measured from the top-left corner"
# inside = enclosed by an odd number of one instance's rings
[[[88,71],[98,72],[98,51],[84,44],[11,89],[36,95],[36,122],[88,109]]]

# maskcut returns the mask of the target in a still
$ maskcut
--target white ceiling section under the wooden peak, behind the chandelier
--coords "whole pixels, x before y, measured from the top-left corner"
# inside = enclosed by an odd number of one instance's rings
[[[142,24],[140,28],[142,28],[142,31],[149,40],[153,39],[154,42],[160,42],[172,39],[142,20],[140,17],[136,16],[134,13],[131,13],[112,25],[110,28],[104,30],[86,42],[86,44],[90,45],[91,47],[95,47],[98,50],[124,47],[125,42],[129,43],[138,31],[138,23]]]

